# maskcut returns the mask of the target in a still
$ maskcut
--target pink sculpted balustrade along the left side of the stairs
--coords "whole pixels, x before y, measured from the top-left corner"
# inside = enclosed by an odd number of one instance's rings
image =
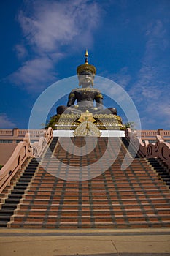
[[[44,137],[40,137],[38,142],[30,143],[30,135],[27,133],[23,141],[18,143],[11,157],[0,170],[0,193],[10,184],[12,177],[21,169],[23,162],[28,157],[39,157],[44,151],[47,143],[53,137],[53,129],[49,127],[45,131]]]

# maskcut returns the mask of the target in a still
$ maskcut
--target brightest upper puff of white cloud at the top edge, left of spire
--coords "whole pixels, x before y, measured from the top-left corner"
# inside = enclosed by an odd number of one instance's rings
[[[88,42],[89,32],[97,26],[98,5],[95,2],[31,1],[32,13],[21,10],[18,15],[23,34],[38,51],[58,50],[61,45]],[[84,36],[84,40],[80,40]]]

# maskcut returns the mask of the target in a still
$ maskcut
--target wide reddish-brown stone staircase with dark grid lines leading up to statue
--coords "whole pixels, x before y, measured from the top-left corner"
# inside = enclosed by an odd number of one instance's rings
[[[108,138],[98,138],[93,151],[75,154],[73,145],[81,150],[95,141],[53,138],[40,163],[32,168],[32,159],[20,177],[20,189],[16,186],[9,193],[1,222],[13,228],[170,227],[169,187],[147,159],[136,157],[121,170],[127,148],[120,138],[109,138],[109,144]],[[106,151],[107,157],[99,162]],[[77,175],[79,180],[72,181]],[[12,216],[3,219],[4,209],[14,201],[8,214]]]

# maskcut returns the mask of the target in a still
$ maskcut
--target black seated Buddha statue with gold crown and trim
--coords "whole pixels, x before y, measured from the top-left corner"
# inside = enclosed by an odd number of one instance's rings
[[[103,95],[93,87],[93,81],[96,75],[96,67],[88,64],[88,50],[85,52],[85,64],[77,67],[77,76],[80,88],[73,89],[69,94],[67,105],[61,105],[57,108],[57,114],[62,113],[89,113],[113,114],[117,115],[116,108],[104,109]],[[75,102],[77,101],[77,104]],[[96,103],[94,105],[94,102]]]

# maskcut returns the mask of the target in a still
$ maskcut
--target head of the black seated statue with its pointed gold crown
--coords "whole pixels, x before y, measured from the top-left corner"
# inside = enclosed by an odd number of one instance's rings
[[[85,64],[77,67],[77,75],[79,79],[79,86],[82,86],[83,88],[93,86],[96,67],[88,64],[88,50],[85,52]]]

